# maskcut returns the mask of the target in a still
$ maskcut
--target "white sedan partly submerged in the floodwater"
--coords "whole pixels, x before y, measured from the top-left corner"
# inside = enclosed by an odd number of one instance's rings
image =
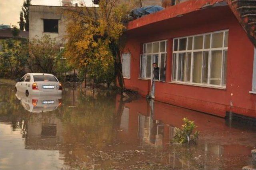
[[[15,90],[25,93],[26,96],[62,94],[62,85],[52,74],[28,73],[16,81]]]

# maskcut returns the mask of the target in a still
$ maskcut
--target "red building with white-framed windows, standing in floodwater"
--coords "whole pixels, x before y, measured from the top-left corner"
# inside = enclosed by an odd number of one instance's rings
[[[239,0],[189,0],[129,22],[126,88],[146,96],[156,62],[155,100],[221,117],[234,112],[255,118],[255,11],[239,9]]]

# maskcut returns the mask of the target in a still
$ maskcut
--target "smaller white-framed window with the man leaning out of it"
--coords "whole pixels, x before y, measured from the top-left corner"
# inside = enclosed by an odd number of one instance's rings
[[[140,78],[152,78],[152,64],[160,68],[158,80],[166,80],[166,43],[167,41],[143,44],[143,54],[140,56]]]

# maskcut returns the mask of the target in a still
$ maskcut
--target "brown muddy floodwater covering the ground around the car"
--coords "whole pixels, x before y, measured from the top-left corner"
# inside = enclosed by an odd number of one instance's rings
[[[170,144],[184,117],[197,145]],[[241,170],[255,147],[254,127],[145,98],[83,88],[26,97],[0,85],[0,170]]]

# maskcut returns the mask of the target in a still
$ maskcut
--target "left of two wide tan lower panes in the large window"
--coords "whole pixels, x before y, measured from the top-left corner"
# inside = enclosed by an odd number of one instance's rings
[[[192,82],[201,83],[202,52],[194,52]]]

